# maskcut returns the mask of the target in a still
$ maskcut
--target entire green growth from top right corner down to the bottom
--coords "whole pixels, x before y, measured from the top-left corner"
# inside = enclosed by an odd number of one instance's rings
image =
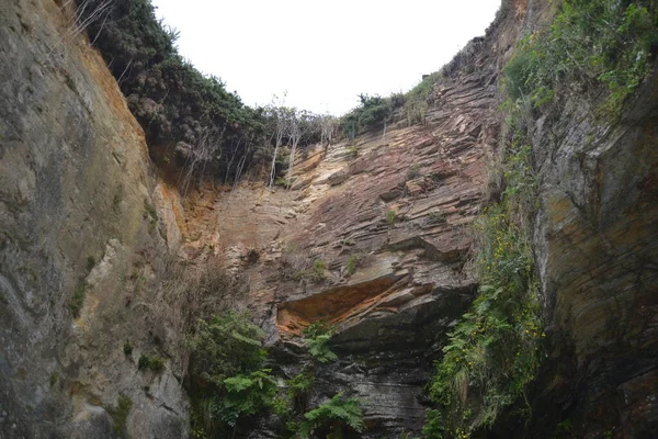
[[[536,376],[544,336],[527,238],[538,207],[529,130],[536,112],[559,108],[574,91],[594,100],[603,87],[608,93],[598,115],[619,117],[651,67],[657,30],[654,1],[566,0],[552,25],[524,38],[504,67],[502,184],[492,196],[498,203],[475,224],[479,294],[436,362],[429,390],[444,421],[432,412],[428,429],[439,426],[446,435],[468,437],[503,412],[527,415],[524,392]],[[436,214],[431,221],[442,218]]]

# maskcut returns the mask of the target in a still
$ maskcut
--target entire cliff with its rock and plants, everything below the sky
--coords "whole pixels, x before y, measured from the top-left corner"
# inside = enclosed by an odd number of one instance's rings
[[[243,105],[145,0],[0,5],[0,435],[649,438],[655,1]]]

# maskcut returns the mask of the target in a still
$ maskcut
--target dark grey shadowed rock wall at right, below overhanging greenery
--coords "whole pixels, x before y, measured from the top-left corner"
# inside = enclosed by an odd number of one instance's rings
[[[534,131],[534,248],[553,359],[570,364],[548,372],[548,390],[588,438],[658,431],[657,83],[655,72],[619,123],[571,101]]]

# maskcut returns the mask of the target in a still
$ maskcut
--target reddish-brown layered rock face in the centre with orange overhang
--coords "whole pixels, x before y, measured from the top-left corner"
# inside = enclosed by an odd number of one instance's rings
[[[316,397],[353,391],[372,437],[419,430],[433,344],[475,293],[469,225],[498,135],[487,57],[436,90],[424,124],[408,126],[400,112],[386,131],[311,148],[292,190],[245,183],[195,219],[226,267],[250,279],[247,302],[279,367],[295,370],[291,347],[310,323],[336,325],[341,360],[322,368]]]

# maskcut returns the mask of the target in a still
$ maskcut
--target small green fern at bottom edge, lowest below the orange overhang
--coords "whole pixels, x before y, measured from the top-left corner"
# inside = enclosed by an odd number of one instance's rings
[[[342,438],[348,428],[356,432],[365,430],[361,403],[356,398],[345,398],[342,393],[338,393],[325,404],[304,414],[299,435],[309,438],[317,430],[326,430],[328,438]]]

